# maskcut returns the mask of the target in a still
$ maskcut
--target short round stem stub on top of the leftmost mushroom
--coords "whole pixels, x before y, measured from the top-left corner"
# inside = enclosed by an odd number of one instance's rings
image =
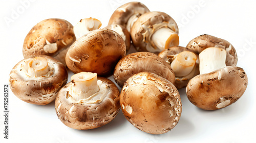
[[[29,61],[28,74],[31,77],[41,77],[48,73],[48,61],[44,57],[35,57]]]

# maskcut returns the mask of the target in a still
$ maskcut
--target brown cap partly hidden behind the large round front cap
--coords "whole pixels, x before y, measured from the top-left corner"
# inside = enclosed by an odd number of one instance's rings
[[[142,71],[148,71],[172,83],[175,82],[174,71],[170,68],[170,65],[156,54],[150,52],[137,52],[123,57],[116,64],[113,78],[122,87],[127,79]]]

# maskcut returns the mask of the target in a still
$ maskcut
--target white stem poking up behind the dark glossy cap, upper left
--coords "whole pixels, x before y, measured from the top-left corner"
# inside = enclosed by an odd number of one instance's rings
[[[76,39],[82,37],[83,35],[101,27],[101,22],[95,18],[84,18],[81,19],[75,26],[74,26],[74,33]]]

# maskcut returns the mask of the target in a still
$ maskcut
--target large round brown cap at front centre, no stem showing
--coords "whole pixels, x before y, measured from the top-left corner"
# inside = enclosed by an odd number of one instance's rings
[[[132,125],[151,134],[173,129],[182,110],[177,88],[168,80],[148,72],[135,74],[125,82],[120,105]]]

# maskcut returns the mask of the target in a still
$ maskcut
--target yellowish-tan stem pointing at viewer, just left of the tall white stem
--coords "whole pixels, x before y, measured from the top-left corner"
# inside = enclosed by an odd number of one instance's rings
[[[177,55],[177,57],[170,64],[176,77],[184,77],[191,73],[196,65],[197,56],[193,52],[184,51]]]

